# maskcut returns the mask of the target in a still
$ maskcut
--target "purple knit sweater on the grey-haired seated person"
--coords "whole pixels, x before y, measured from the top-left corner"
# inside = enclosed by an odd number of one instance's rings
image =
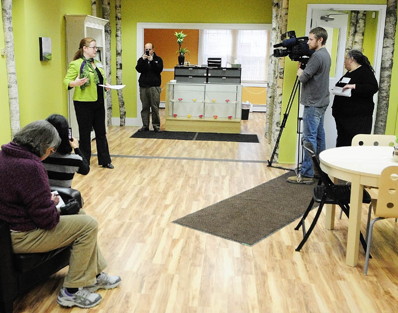
[[[51,229],[59,213],[39,157],[10,142],[0,151],[0,219],[10,229]]]

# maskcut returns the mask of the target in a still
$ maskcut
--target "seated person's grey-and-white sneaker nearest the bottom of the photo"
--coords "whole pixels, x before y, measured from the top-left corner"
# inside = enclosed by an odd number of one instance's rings
[[[79,288],[76,293],[70,294],[65,287],[62,287],[58,294],[57,303],[63,307],[93,308],[101,300],[101,295],[92,293],[85,288]]]

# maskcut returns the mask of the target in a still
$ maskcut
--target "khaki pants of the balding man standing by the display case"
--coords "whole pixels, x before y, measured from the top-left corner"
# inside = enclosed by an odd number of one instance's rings
[[[161,87],[140,87],[141,119],[143,126],[146,128],[149,128],[149,109],[152,111],[153,129],[160,128],[159,105],[161,91]]]

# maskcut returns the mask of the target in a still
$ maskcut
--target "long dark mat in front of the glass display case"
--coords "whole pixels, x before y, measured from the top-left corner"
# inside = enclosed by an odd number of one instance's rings
[[[147,131],[147,132],[137,131],[130,138],[259,143],[257,135],[250,135],[250,134],[221,134],[221,133],[194,133],[194,132],[168,132],[168,131],[156,133],[153,131]]]

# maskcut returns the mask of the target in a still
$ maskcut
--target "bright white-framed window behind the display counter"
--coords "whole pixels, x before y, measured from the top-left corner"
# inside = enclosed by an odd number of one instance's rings
[[[201,64],[206,64],[209,57],[221,57],[223,67],[241,64],[242,81],[267,81],[270,30],[203,29],[199,36]]]

